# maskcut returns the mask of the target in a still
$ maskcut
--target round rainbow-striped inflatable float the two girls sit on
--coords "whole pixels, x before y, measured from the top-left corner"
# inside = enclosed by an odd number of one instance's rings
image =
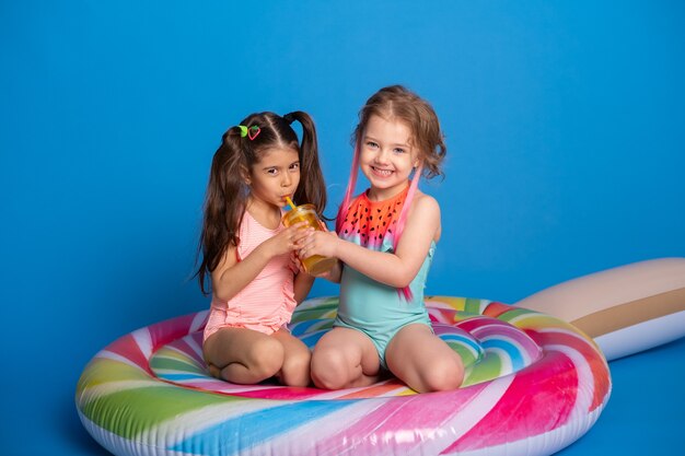
[[[464,385],[416,394],[397,381],[337,391],[233,385],[208,376],[206,312],[106,347],[77,388],[81,421],[115,455],[549,455],[583,435],[608,400],[604,356],[573,326],[485,300],[427,299],[434,330],[465,360]],[[310,347],[336,297],[302,303]]]

